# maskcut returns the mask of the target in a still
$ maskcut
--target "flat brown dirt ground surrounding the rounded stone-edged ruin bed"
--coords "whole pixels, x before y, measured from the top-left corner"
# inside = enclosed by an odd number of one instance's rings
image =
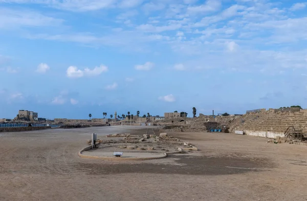
[[[223,133],[174,133],[200,151],[150,161],[82,159],[91,133],[144,127],[0,134],[0,200],[306,200],[307,146]],[[148,128],[148,127],[146,127]]]

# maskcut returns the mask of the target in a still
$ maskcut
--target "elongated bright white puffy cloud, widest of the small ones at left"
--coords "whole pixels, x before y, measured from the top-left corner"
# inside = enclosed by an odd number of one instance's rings
[[[94,69],[84,68],[84,70],[78,69],[76,66],[68,67],[66,74],[69,78],[81,78],[83,76],[99,76],[102,72],[108,71],[108,67],[104,65],[100,65],[99,67],[95,67]]]

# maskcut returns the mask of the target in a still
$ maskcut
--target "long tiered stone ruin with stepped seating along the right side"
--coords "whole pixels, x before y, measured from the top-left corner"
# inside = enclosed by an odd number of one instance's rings
[[[186,119],[184,122],[168,122],[161,125],[160,131],[166,132],[207,132],[221,129],[225,133],[242,131],[246,135],[277,138],[287,137],[292,140],[307,141],[307,110],[258,109],[244,115],[215,116],[202,115],[199,118]],[[293,132],[289,132],[293,128]],[[298,135],[296,133],[301,133]]]

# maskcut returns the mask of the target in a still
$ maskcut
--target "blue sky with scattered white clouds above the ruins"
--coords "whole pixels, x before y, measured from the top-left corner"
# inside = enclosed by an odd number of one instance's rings
[[[307,107],[307,2],[0,0],[0,118]]]

